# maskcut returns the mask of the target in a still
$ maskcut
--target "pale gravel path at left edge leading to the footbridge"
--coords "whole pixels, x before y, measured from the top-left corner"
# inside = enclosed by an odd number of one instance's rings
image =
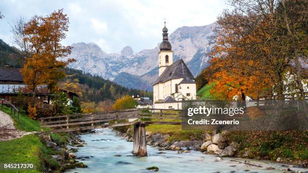
[[[10,115],[0,111],[0,141],[21,138],[28,134],[32,134],[32,132],[17,130]]]

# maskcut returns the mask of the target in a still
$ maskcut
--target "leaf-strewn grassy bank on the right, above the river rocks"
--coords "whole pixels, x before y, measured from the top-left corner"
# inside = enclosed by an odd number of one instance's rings
[[[227,133],[226,138],[240,144],[239,156],[308,161],[308,131],[238,131]]]

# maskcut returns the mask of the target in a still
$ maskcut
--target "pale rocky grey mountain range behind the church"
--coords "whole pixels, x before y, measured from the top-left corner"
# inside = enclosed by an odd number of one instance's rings
[[[215,23],[184,26],[169,36],[174,61],[182,58],[194,76],[208,65],[215,26]],[[106,53],[95,43],[75,43],[71,45],[70,57],[76,61],[69,67],[102,76],[128,88],[152,91],[151,84],[158,77],[159,44],[140,52],[134,52],[130,46],[126,46],[118,53]]]

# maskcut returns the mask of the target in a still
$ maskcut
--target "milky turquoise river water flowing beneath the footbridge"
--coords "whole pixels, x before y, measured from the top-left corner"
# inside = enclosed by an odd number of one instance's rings
[[[76,168],[67,172],[150,172],[146,167],[157,166],[158,172],[283,172],[285,165],[271,161],[259,161],[249,159],[249,163],[260,165],[249,166],[241,158],[223,158],[215,161],[215,155],[203,154],[199,151],[190,153],[177,153],[177,151],[163,151],[160,153],[156,147],[147,146],[147,157],[132,156],[133,142],[127,142],[124,138],[116,136],[111,129],[97,129],[96,133],[82,135],[87,143],[76,152],[78,156],[89,156],[85,160],[79,160],[87,164],[88,168]],[[119,154],[121,156],[115,156]],[[233,160],[241,161],[242,163]],[[272,166],[275,169],[267,170]],[[291,170],[307,169],[290,167]]]

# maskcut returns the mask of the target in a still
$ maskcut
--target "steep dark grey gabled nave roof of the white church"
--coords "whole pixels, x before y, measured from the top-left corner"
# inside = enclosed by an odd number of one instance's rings
[[[157,78],[153,85],[162,83],[176,78],[189,78],[195,79],[190,70],[186,66],[183,59],[179,59],[164,70],[164,72]]]

